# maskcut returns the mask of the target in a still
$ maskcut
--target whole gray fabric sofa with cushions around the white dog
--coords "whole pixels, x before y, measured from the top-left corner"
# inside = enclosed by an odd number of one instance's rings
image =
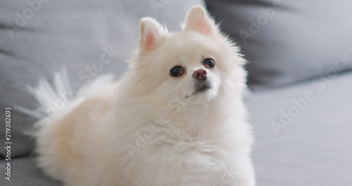
[[[0,185],[61,185],[37,168],[23,134],[37,103],[26,86],[68,68],[78,87],[121,75],[139,37],[139,19],[169,30],[203,4],[249,59],[246,96],[256,135],[259,186],[352,185],[352,22],[350,1],[1,1],[0,114],[11,107],[11,181],[0,126]],[[112,51],[109,63],[99,63]],[[92,154],[94,156],[94,154]]]

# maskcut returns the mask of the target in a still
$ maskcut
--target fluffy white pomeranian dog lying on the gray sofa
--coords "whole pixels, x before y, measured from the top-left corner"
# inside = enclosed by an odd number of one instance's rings
[[[140,29],[120,81],[93,82],[39,121],[39,167],[73,186],[255,185],[246,61],[237,46],[201,6],[191,8],[182,32],[152,18]],[[65,83],[57,79],[56,87]],[[46,82],[32,91],[43,106],[58,95]]]

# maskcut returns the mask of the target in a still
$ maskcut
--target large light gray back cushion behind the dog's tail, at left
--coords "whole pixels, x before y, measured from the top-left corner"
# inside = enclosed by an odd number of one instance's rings
[[[34,118],[15,111],[14,105],[37,108],[27,85],[52,80],[63,66],[72,85],[89,83],[94,77],[121,75],[125,61],[136,49],[139,20],[151,16],[165,22],[170,31],[181,30],[192,1],[45,1],[0,2],[0,108],[12,106],[12,156],[27,155],[33,142],[23,135]],[[108,49],[113,51],[107,52]],[[105,55],[106,63],[101,61]],[[75,92],[75,91],[73,91]],[[69,96],[68,96],[69,97]],[[4,114],[0,120],[4,121]],[[0,126],[4,131],[5,125]],[[4,137],[0,138],[4,144]],[[5,154],[4,148],[0,154]]]

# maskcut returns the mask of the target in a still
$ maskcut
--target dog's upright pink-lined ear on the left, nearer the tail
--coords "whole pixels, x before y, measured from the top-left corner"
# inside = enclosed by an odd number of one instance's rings
[[[162,26],[153,18],[142,18],[141,38],[139,39],[139,48],[142,51],[152,51],[161,44],[163,38],[168,35],[168,29]]]

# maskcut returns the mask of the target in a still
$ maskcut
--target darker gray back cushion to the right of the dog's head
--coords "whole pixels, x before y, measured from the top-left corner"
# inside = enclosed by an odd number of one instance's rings
[[[339,56],[349,60],[340,61],[334,70],[352,70],[352,1],[206,0],[206,4],[249,59],[251,89],[326,75]]]

